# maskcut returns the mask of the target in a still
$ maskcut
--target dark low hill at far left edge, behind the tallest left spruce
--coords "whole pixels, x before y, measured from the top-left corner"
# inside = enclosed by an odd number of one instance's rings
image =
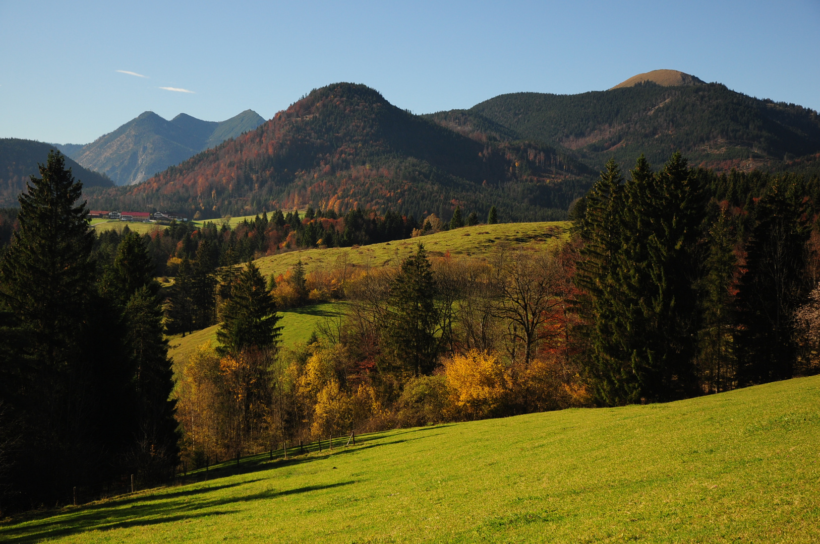
[[[0,207],[17,206],[17,195],[25,190],[30,175],[37,175],[37,164],[45,164],[50,143],[34,142],[19,138],[0,138]],[[86,170],[66,157],[66,167],[71,168],[76,179],[84,187],[112,187],[107,176]]]

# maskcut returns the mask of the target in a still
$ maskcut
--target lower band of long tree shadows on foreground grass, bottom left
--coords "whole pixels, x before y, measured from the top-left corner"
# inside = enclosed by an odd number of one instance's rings
[[[252,480],[257,482],[258,480]],[[227,487],[235,487],[238,484],[224,486],[206,487],[203,489],[191,490],[192,492],[216,491]],[[75,534],[87,533],[89,531],[108,531],[118,528],[144,527],[148,525],[171,524],[177,521],[206,518],[225,514],[235,514],[239,510],[226,510],[220,507],[235,504],[238,502],[258,501],[264,499],[276,499],[280,496],[297,495],[333,489],[335,487],[348,486],[355,481],[329,483],[326,485],[304,486],[295,489],[285,489],[283,491],[266,490],[263,492],[249,493],[244,495],[225,496],[221,498],[204,499],[201,501],[174,501],[186,496],[187,492],[168,493],[164,495],[143,497],[142,500],[134,497],[120,501],[106,501],[100,505],[90,505],[71,510],[65,514],[55,515],[47,519],[32,521],[23,526],[0,529],[0,540],[23,542],[25,544],[42,542],[59,537],[68,537]],[[212,510],[217,509],[217,510]]]

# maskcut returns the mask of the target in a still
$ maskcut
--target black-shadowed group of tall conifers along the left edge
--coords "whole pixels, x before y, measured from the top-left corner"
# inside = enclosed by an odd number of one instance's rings
[[[168,478],[179,459],[162,297],[142,240],[94,250],[81,185],[48,155],[0,261],[0,510]]]

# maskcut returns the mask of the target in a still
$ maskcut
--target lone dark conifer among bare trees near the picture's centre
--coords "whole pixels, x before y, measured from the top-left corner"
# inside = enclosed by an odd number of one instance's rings
[[[390,286],[393,311],[385,329],[394,357],[414,375],[430,374],[439,352],[435,295],[430,261],[424,246],[419,244],[416,254],[403,261]]]

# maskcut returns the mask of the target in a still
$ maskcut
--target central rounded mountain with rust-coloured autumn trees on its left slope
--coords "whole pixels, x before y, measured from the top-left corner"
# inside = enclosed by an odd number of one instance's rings
[[[458,205],[484,216],[495,205],[503,220],[565,217],[593,170],[499,130],[499,138],[470,138],[364,85],[333,84],[144,184],[89,197],[93,207],[119,202],[203,218],[307,204],[444,220]]]

